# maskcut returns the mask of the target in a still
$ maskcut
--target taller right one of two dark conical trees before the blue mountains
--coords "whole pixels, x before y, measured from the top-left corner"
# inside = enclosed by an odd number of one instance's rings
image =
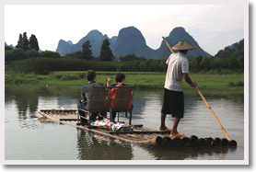
[[[115,57],[111,51],[110,45],[111,43],[108,39],[103,40],[100,48],[99,61],[111,62],[114,60]]]

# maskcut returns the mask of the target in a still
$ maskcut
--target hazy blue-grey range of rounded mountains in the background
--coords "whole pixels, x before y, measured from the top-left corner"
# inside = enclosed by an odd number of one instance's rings
[[[134,53],[136,56],[144,56],[146,59],[167,59],[171,53],[164,40],[162,40],[157,50],[153,50],[148,47],[145,43],[145,38],[142,32],[134,27],[121,29],[118,36],[114,36],[111,39],[107,35],[102,35],[99,30],[94,29],[76,44],[69,44],[67,41],[59,40],[56,52],[60,52],[61,55],[64,55],[66,53],[81,51],[83,43],[89,40],[92,46],[91,50],[93,55],[97,57],[100,54],[102,41],[105,39],[110,41],[111,51],[117,57]],[[197,57],[199,55],[212,56],[208,52],[204,52],[192,36],[181,27],[173,29],[169,33],[169,36],[166,37],[166,40],[168,40],[171,47],[183,39],[188,40],[192,45],[197,47],[196,50],[189,51],[188,55],[192,55],[193,57]]]

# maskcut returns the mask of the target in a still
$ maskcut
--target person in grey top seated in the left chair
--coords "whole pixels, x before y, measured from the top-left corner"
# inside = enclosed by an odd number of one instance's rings
[[[80,101],[80,104],[78,104],[78,109],[85,109],[85,110],[88,109],[87,99],[90,99],[90,97],[91,97],[93,86],[103,86],[99,83],[96,83],[97,82],[97,74],[95,71],[88,70],[86,77],[87,77],[88,84],[85,86],[82,86],[82,88],[81,88],[82,100]],[[108,79],[107,86],[111,86],[111,78]],[[78,110],[78,112],[82,117],[85,117],[84,111]],[[103,119],[102,116],[105,116],[106,114],[100,113],[100,115],[101,115],[101,118],[99,117],[99,120],[102,120]],[[96,120],[97,116],[98,116],[98,113],[93,113],[90,115],[89,120]],[[87,121],[87,120],[84,120],[83,118],[81,118],[81,123],[85,122],[85,121]]]

